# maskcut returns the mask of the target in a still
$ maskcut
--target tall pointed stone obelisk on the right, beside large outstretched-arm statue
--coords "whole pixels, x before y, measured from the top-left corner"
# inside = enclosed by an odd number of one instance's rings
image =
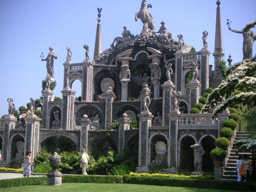
[[[223,60],[225,54],[223,53],[223,40],[222,40],[222,29],[221,29],[221,18],[220,18],[220,0],[216,2],[218,5],[216,13],[216,26],[215,26],[215,46],[214,46],[214,71],[218,70],[218,62]]]

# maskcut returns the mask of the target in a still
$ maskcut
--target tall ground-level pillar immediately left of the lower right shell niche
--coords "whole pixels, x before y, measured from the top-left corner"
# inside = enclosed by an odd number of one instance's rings
[[[151,126],[152,118],[154,117],[151,112],[143,111],[139,115],[139,162],[136,172],[148,173],[148,127]]]

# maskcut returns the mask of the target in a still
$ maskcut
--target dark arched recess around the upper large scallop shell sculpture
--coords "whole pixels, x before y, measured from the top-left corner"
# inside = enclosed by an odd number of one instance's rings
[[[120,96],[118,93],[118,90],[120,88],[119,86],[119,74],[114,73],[113,71],[110,70],[102,70],[100,72],[98,72],[95,77],[94,77],[94,95],[93,95],[93,99],[94,101],[96,101],[97,95],[102,94],[102,90],[101,90],[101,81],[105,78],[110,78],[114,81],[115,83],[115,87],[113,92],[116,94],[117,96],[117,100],[120,100]]]

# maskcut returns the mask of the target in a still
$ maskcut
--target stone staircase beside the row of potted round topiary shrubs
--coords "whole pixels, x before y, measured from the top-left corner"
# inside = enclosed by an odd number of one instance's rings
[[[248,134],[246,132],[236,132],[234,140],[239,140],[239,139],[246,139]],[[233,142],[231,145],[233,145]],[[226,163],[226,167],[224,168],[223,171],[223,176],[221,180],[237,180],[237,173],[236,173],[236,161],[238,160],[239,155],[243,154],[248,154],[249,156],[251,155],[250,152],[241,152],[237,154],[237,149],[233,146],[231,146],[231,150],[229,150],[228,153],[228,160]]]

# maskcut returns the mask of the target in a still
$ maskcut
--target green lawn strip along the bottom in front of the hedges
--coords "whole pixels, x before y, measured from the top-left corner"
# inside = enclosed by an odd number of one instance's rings
[[[41,185],[30,185],[21,187],[10,187],[3,188],[0,191],[34,191],[34,192],[101,192],[101,191],[118,191],[118,192],[224,192],[227,190],[217,189],[199,189],[189,187],[168,187],[168,186],[155,186],[155,185],[136,185],[136,184],[99,184],[99,183],[63,183],[61,186],[47,186],[46,184]],[[231,192],[231,191],[228,191]],[[238,191],[237,191],[238,192]]]

